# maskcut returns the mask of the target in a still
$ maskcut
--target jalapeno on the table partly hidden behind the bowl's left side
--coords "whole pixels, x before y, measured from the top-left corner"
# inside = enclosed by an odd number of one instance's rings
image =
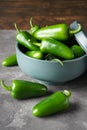
[[[8,57],[6,57],[3,61],[2,61],[2,65],[3,66],[16,66],[17,65],[17,58],[16,58],[16,54],[12,54]]]

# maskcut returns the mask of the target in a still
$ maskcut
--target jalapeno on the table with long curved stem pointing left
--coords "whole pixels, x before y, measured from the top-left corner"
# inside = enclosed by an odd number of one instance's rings
[[[11,96],[15,99],[34,98],[47,93],[45,85],[25,80],[13,80],[11,86],[6,86],[4,81],[1,80],[1,86],[10,91]]]

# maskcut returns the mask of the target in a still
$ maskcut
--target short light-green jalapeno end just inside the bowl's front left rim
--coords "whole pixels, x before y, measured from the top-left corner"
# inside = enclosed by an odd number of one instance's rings
[[[25,54],[35,59],[42,59],[43,57],[43,54],[41,53],[41,51],[27,51]]]

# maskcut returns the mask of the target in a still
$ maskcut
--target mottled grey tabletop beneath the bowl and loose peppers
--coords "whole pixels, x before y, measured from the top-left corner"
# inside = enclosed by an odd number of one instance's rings
[[[13,79],[36,81],[27,77],[18,66],[1,65],[6,56],[15,53],[15,36],[14,30],[0,30],[0,79],[7,85]],[[52,92],[71,90],[70,108],[53,116],[37,118],[31,109],[45,97],[19,101],[0,86],[0,130],[87,130],[87,72],[68,83],[48,85],[48,89]]]

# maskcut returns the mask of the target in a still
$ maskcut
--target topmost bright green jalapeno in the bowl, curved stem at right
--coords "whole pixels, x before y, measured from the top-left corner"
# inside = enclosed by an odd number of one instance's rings
[[[38,40],[51,37],[60,41],[66,41],[71,35],[79,32],[80,30],[80,24],[76,30],[71,30],[67,24],[56,24],[38,29],[35,31],[33,36]]]

